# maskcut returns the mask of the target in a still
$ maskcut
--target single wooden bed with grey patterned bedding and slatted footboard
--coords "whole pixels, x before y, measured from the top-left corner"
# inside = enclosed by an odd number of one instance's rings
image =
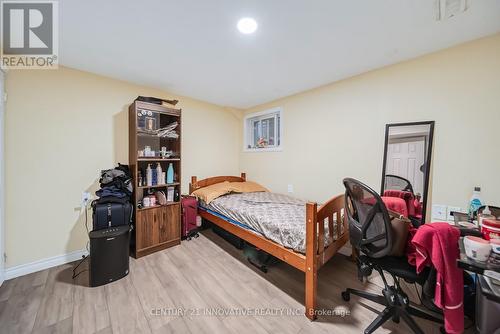
[[[191,178],[189,193],[246,175]],[[199,215],[305,273],[305,314],[316,318],[318,270],[349,240],[344,195],[316,203],[270,192],[229,193],[200,201]]]

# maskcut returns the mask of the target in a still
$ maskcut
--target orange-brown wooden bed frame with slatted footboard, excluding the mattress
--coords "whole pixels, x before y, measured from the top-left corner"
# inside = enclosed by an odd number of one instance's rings
[[[245,173],[241,176],[215,176],[204,180],[191,177],[189,193],[212,184],[229,181],[246,181]],[[344,215],[344,195],[338,195],[328,200],[318,209],[316,203],[306,204],[306,254],[294,252],[263,236],[229,223],[226,220],[199,210],[198,214],[238,236],[257,248],[277,257],[291,266],[301,270],[306,275],[305,280],[305,315],[310,320],[316,319],[316,287],[318,270],[349,240],[346,216]],[[325,247],[325,224],[328,224],[329,234],[333,242]]]

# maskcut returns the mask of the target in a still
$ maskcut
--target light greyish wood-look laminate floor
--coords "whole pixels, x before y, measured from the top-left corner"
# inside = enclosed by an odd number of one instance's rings
[[[131,258],[130,274],[105,286],[89,288],[87,272],[73,281],[74,266],[4,282],[0,332],[362,333],[376,318],[374,311],[381,310],[355,296],[349,303],[341,299],[345,287],[380,293],[381,282],[373,276],[369,283],[360,283],[354,263],[338,254],[319,272],[318,304],[350,314],[310,322],[302,315],[300,271],[279,263],[264,274],[211,231],[139,260]],[[439,333],[437,324],[417,322],[425,333]],[[388,322],[376,333],[408,332],[402,322]]]

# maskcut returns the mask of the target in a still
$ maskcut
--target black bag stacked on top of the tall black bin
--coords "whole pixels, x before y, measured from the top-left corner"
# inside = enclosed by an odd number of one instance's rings
[[[95,203],[93,206],[93,231],[128,225],[132,222],[132,204]]]

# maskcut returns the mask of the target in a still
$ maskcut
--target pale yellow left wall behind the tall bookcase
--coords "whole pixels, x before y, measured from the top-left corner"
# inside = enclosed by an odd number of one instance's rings
[[[86,72],[11,71],[6,90],[6,267],[85,247],[82,191],[128,163],[128,105],[168,93]],[[238,111],[176,97],[183,109],[182,185],[238,173]]]

